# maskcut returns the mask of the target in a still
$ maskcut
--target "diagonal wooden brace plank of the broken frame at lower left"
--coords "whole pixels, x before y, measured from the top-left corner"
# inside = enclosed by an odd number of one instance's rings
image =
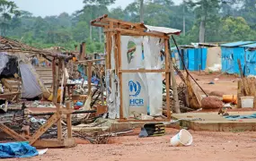
[[[56,123],[60,118],[59,114],[53,114],[47,123],[43,124],[38,131],[34,133],[34,135],[31,137],[30,144],[32,145],[36,140],[40,138],[42,134],[44,134],[46,131],[49,130],[49,128]]]

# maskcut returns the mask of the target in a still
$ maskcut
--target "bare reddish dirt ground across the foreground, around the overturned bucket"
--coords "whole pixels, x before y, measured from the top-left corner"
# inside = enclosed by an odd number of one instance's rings
[[[254,161],[256,132],[190,131],[190,147],[171,147],[170,138],[178,130],[167,129],[166,135],[140,139],[133,136],[111,139],[111,144],[83,144],[75,148],[55,148],[40,157],[7,159],[29,161]]]

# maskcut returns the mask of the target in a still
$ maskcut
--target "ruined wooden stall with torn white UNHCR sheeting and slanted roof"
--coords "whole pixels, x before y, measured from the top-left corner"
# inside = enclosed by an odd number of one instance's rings
[[[104,28],[106,35],[106,86],[109,117],[128,118],[130,115],[163,114],[163,82],[165,73],[166,95],[170,95],[170,35],[181,30],[147,26],[111,19],[103,15],[91,25]],[[128,61],[128,45],[136,47]],[[164,48],[164,64],[161,50]],[[172,65],[172,64],[171,64]],[[164,67],[163,67],[164,66]],[[152,88],[154,87],[154,88]],[[171,118],[170,97],[166,97],[168,119]]]

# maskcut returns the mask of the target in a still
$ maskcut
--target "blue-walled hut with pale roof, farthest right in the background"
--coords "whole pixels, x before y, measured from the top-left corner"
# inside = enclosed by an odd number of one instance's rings
[[[244,71],[245,67],[245,50],[244,45],[249,45],[254,43],[253,41],[238,41],[233,43],[227,43],[221,45],[221,63],[222,72],[227,73],[239,73],[239,65],[237,60],[241,61],[242,69]]]

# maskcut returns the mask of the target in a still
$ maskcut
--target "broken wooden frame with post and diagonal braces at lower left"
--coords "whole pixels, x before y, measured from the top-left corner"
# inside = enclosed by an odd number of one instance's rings
[[[38,148],[69,148],[69,147],[75,147],[75,139],[72,137],[72,123],[71,123],[71,116],[74,110],[71,109],[71,102],[66,102],[66,108],[63,108],[61,106],[61,100],[60,104],[57,104],[57,89],[59,87],[59,81],[62,77],[64,77],[65,69],[65,56],[57,56],[53,58],[53,103],[57,106],[57,112],[50,116],[47,123],[43,124],[38,131],[36,131],[29,139],[26,139],[22,137],[20,134],[16,133],[15,131],[11,130],[7,126],[4,125],[4,123],[0,123],[0,130],[4,131],[6,134],[10,135],[15,140],[20,141],[29,141],[29,143]],[[58,67],[56,65],[58,63]],[[63,81],[66,81],[63,79]],[[62,83],[62,85],[64,85]],[[63,138],[63,132],[62,132],[62,115],[66,115],[66,126],[67,126],[67,138]],[[40,136],[44,134],[46,131],[49,130],[49,128],[54,124],[57,123],[57,140],[39,140]]]

